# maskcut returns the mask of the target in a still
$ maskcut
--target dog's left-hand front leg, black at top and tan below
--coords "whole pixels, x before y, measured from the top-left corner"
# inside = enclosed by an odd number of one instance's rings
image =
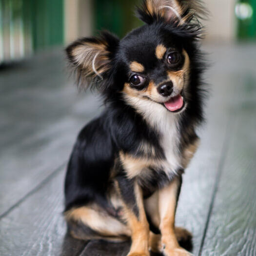
[[[118,190],[124,203],[124,218],[132,234],[128,256],[149,256],[149,224],[146,218],[142,190],[136,179],[118,178]]]

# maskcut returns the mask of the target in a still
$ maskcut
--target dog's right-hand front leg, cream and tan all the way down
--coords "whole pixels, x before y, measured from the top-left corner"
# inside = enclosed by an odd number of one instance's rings
[[[175,234],[175,214],[180,186],[181,177],[177,177],[169,186],[159,191],[161,244],[165,256],[191,255],[179,246]]]

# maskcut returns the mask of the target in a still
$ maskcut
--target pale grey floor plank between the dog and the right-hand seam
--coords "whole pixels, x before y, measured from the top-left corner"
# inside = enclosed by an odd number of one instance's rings
[[[212,46],[207,46],[210,51]],[[222,157],[229,122],[229,105],[233,98],[230,93],[232,83],[225,69],[225,47],[215,49],[211,59],[218,59],[207,72],[211,83],[210,98],[206,107],[206,124],[199,129],[201,144],[196,156],[183,176],[180,199],[177,207],[177,226],[190,230],[193,234],[194,255],[200,251],[201,241],[211,205],[211,198],[217,182],[218,165]],[[221,56],[221,57],[219,57]],[[227,86],[223,87],[223,83]]]

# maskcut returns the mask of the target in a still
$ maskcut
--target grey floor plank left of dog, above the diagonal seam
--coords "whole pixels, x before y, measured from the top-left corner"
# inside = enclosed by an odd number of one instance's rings
[[[68,160],[79,129],[100,112],[64,67],[58,50],[1,72],[0,217]]]

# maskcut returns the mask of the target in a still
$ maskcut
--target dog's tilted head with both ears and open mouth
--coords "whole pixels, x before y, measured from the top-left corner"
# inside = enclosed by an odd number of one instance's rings
[[[122,40],[108,32],[79,39],[68,46],[68,57],[81,81],[106,98],[134,107],[154,102],[180,113],[193,93],[191,80],[199,77],[198,20],[205,10],[200,0],[144,0],[137,13],[144,26]]]

